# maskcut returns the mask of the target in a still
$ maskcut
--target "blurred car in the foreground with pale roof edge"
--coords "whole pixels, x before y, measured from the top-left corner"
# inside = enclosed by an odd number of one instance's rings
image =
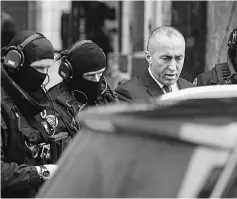
[[[81,112],[37,197],[237,197],[237,86],[217,87]]]

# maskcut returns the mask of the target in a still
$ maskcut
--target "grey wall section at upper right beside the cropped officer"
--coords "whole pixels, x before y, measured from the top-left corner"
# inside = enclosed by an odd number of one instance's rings
[[[230,32],[237,27],[237,2],[209,1],[207,10],[207,43],[205,69],[226,62]]]

